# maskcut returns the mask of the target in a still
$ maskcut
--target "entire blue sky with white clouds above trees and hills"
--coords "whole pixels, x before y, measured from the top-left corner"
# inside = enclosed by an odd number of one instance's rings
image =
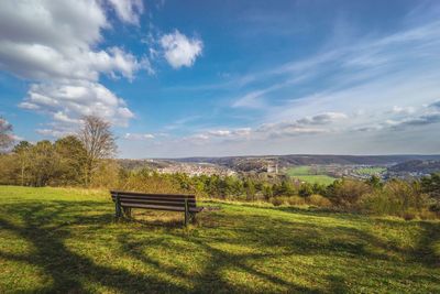
[[[440,151],[438,1],[0,3],[18,140],[113,124],[120,157]]]

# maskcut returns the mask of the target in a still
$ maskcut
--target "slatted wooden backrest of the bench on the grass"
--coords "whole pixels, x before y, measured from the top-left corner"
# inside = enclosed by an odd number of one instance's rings
[[[190,210],[196,208],[195,195],[145,194],[122,190],[110,190],[110,194],[113,202],[116,202],[118,196],[118,199],[122,207],[185,211],[186,202]]]

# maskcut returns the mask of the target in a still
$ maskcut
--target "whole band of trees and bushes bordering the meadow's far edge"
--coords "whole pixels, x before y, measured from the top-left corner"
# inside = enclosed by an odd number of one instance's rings
[[[421,179],[337,179],[330,185],[240,173],[237,176],[160,174],[125,170],[113,159],[117,144],[109,122],[84,117],[76,134],[51,142],[21,141],[12,149],[12,127],[0,119],[0,184],[84,186],[151,193],[191,193],[205,198],[316,206],[399,217],[440,215],[440,173]]]

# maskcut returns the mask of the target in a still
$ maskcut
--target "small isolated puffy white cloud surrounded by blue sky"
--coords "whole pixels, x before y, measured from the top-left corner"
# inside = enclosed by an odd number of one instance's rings
[[[200,39],[188,39],[177,30],[174,33],[163,35],[160,43],[164,50],[165,59],[174,68],[193,66],[196,58],[201,55],[204,47]]]

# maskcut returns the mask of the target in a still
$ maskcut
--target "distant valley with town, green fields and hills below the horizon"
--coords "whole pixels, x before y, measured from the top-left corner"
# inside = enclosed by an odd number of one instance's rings
[[[128,170],[150,168],[161,174],[189,176],[256,174],[290,176],[300,182],[331,182],[350,177],[367,179],[419,178],[440,171],[439,155],[280,155],[191,159],[119,160]]]

